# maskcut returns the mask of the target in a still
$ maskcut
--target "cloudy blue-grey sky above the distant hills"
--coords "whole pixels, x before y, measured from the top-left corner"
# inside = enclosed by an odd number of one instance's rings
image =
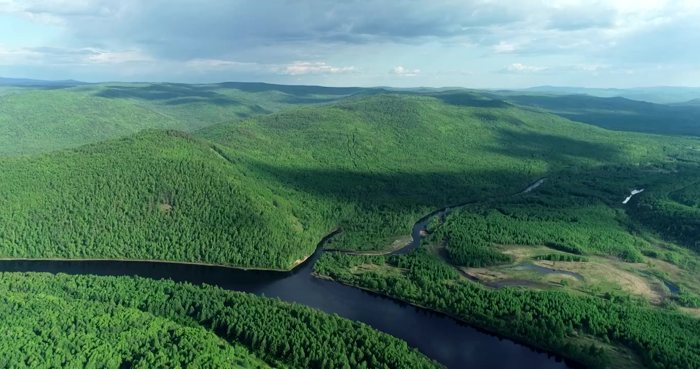
[[[0,0],[0,77],[700,86],[700,1]]]

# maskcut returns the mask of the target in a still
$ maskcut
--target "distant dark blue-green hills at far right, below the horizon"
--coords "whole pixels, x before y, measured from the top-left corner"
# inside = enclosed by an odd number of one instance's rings
[[[700,108],[662,105],[622,97],[483,93],[525,108],[541,108],[568,120],[615,131],[700,136]]]

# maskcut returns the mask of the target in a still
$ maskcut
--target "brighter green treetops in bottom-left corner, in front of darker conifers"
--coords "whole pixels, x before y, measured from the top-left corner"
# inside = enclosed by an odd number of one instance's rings
[[[3,368],[269,368],[247,347],[222,342],[202,327],[20,290],[0,291]]]

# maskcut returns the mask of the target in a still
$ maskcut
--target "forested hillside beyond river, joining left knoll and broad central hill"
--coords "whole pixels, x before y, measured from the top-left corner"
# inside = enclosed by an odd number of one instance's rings
[[[211,127],[0,159],[6,258],[288,269],[326,233],[384,249],[423,215],[561,168],[635,166],[696,140],[610,132],[472,92],[365,94]],[[628,185],[605,189],[622,198]]]

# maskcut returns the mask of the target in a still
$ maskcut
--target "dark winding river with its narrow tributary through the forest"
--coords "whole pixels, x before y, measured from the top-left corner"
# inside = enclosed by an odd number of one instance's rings
[[[467,205],[467,204],[465,204]],[[463,205],[459,205],[463,206]],[[430,217],[457,207],[444,208],[423,217],[413,228],[414,239],[397,254],[420,244],[420,231]],[[48,272],[92,275],[139,275],[168,278],[178,282],[211,284],[232,291],[243,291],[313,307],[329,314],[362,321],[379,331],[405,340],[409,346],[442,363],[447,368],[576,368],[576,363],[542,352],[503,336],[468,326],[431,310],[373,294],[362,289],[323,280],[311,275],[323,245],[290,272],[239,270],[221,266],[151,261],[0,261],[2,272]]]

